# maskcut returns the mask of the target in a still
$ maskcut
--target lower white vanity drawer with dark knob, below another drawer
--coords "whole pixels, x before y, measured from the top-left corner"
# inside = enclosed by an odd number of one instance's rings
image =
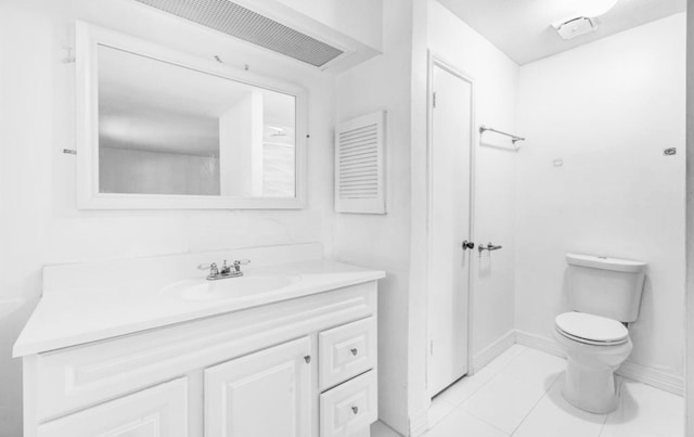
[[[370,371],[321,394],[321,437],[348,437],[378,419],[376,372]]]

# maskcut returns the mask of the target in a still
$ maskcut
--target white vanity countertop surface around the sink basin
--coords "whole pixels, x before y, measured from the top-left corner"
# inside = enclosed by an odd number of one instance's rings
[[[13,348],[14,357],[81,345],[119,335],[217,316],[385,278],[385,272],[330,260],[264,266],[250,275],[299,278],[282,288],[224,299],[194,300],[163,293],[171,280],[155,274],[44,293]],[[177,278],[205,281],[197,277]],[[221,281],[234,281],[234,278]],[[217,282],[221,282],[217,281]],[[124,285],[127,284],[127,285]],[[98,290],[94,290],[98,288]]]

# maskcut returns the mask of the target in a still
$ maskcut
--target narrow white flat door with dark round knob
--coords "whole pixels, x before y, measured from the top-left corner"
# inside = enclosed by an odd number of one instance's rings
[[[440,65],[432,75],[429,145],[429,295],[427,388],[430,396],[467,373],[471,237],[472,83]]]

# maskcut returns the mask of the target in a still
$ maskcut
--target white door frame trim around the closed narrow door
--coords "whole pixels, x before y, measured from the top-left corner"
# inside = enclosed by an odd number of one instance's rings
[[[429,395],[429,390],[428,390],[428,385],[429,385],[429,357],[430,354],[428,351],[428,348],[430,347],[430,338],[429,338],[429,312],[428,312],[428,304],[429,304],[429,296],[430,296],[430,292],[433,288],[433,284],[432,284],[432,245],[433,245],[433,237],[432,237],[432,221],[433,221],[433,168],[432,168],[432,159],[433,159],[433,146],[434,146],[434,137],[433,137],[433,127],[434,127],[434,114],[433,114],[433,108],[434,108],[434,67],[439,67],[442,68],[445,70],[447,70],[448,73],[452,74],[453,76],[457,76],[458,78],[460,78],[461,80],[466,81],[467,83],[470,83],[471,87],[471,133],[470,133],[470,235],[467,235],[467,237],[471,241],[475,241],[475,171],[476,171],[476,147],[475,144],[477,144],[477,140],[478,140],[478,131],[477,131],[477,125],[476,125],[476,116],[475,116],[475,108],[476,108],[476,104],[475,104],[475,79],[473,78],[473,76],[466,74],[464,70],[462,70],[461,68],[458,68],[454,66],[453,63],[448,62],[446,60],[446,57],[439,55],[438,53],[428,50],[427,51],[427,80],[426,80],[426,101],[427,101],[427,105],[426,105],[426,264],[425,264],[425,269],[426,269],[426,273],[425,273],[425,278],[426,278],[426,365],[425,365],[425,371],[426,371],[426,394],[427,397],[430,398]],[[471,252],[472,254],[472,252]],[[474,368],[473,368],[473,362],[474,362],[474,357],[472,351],[474,350],[473,348],[473,304],[474,304],[474,283],[475,281],[473,280],[473,269],[472,269],[472,265],[473,265],[473,260],[472,260],[472,255],[471,255],[471,260],[467,264],[467,269],[468,269],[468,274],[467,274],[467,374],[470,374],[471,372],[474,372]]]

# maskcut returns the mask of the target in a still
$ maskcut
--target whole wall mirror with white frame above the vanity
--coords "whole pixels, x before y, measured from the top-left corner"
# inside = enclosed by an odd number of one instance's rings
[[[82,208],[299,208],[301,89],[83,23]]]

